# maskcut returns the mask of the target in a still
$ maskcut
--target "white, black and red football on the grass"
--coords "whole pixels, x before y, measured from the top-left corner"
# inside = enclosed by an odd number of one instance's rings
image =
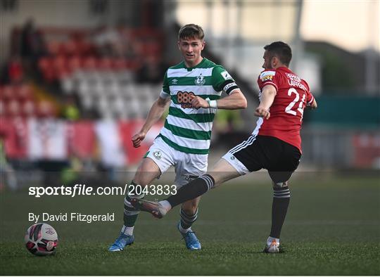
[[[25,233],[25,246],[37,256],[51,255],[56,252],[58,234],[46,223],[33,224]]]

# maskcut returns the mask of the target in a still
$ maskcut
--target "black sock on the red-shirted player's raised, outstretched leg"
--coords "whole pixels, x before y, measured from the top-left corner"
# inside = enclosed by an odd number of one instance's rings
[[[182,186],[177,191],[177,194],[170,195],[166,200],[170,202],[172,207],[175,207],[187,200],[191,200],[201,196],[204,193],[210,191],[210,188],[214,186],[214,179],[211,175],[205,174],[199,178],[191,181],[187,185]]]

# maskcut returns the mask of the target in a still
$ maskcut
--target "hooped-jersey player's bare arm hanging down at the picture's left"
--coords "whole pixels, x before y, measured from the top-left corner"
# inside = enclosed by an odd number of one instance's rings
[[[151,110],[149,110],[148,117],[146,117],[143,127],[141,127],[141,130],[137,134],[132,136],[132,143],[134,147],[140,147],[141,141],[145,139],[146,133],[148,133],[153,124],[158,122],[158,120],[163,116],[163,113],[166,109],[166,105],[169,102],[170,97],[158,97],[158,99],[153,103]]]

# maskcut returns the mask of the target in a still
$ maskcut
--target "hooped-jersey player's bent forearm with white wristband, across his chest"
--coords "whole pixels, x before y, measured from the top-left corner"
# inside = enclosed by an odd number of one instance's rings
[[[220,100],[206,101],[205,99],[194,96],[191,100],[191,104],[194,108],[218,108],[224,110],[238,110],[247,108],[246,96],[244,96],[240,89],[234,91]]]

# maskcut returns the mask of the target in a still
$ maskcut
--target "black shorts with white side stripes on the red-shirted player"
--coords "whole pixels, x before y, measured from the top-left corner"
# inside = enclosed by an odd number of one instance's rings
[[[229,150],[227,154],[234,155],[249,172],[267,169],[274,183],[288,181],[297,169],[301,157],[296,146],[274,136],[255,135]],[[232,160],[231,156],[230,159]],[[232,161],[230,163],[233,165]]]

